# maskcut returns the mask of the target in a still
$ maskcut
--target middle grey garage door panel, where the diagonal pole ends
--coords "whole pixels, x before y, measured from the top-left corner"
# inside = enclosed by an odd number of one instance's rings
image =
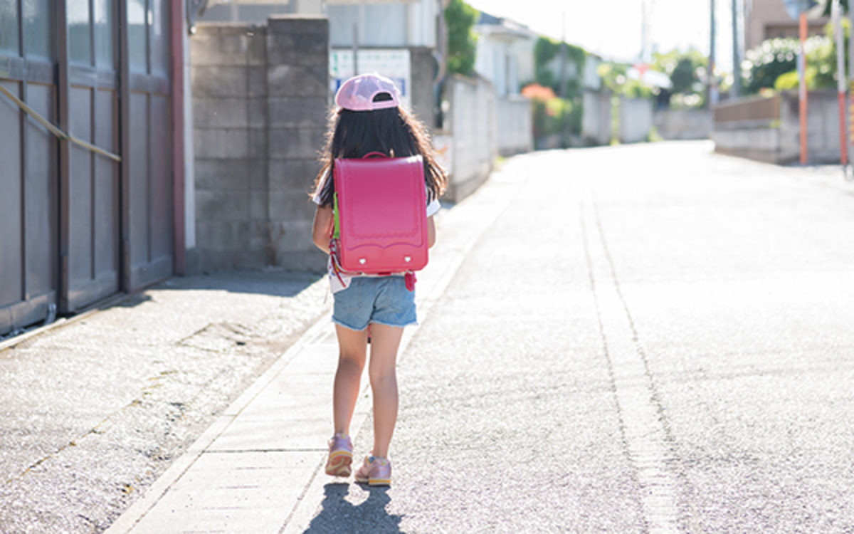
[[[65,0],[59,46],[60,127],[111,152],[120,123],[114,4]],[[60,191],[60,311],[74,312],[120,290],[119,163],[63,141]]]

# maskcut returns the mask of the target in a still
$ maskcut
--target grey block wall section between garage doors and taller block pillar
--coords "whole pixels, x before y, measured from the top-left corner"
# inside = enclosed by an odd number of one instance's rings
[[[200,24],[190,54],[198,268],[263,267],[266,28]]]

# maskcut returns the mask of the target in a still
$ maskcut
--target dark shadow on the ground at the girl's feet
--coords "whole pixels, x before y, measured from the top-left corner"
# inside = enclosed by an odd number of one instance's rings
[[[389,488],[362,486],[368,492],[368,498],[365,502],[354,505],[345,499],[349,487],[349,484],[335,483],[324,486],[325,497],[321,503],[322,510],[312,519],[311,525],[308,525],[304,534],[401,532],[402,516],[389,514],[385,510],[391,502]]]

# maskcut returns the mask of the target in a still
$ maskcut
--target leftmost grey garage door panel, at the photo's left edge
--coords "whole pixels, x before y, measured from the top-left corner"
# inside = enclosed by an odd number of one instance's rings
[[[56,123],[56,0],[0,3],[0,85]],[[0,335],[58,300],[56,138],[0,95]]]

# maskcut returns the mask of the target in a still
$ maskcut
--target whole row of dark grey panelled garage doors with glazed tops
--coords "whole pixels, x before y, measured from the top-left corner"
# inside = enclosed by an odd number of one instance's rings
[[[0,85],[122,157],[0,95],[0,335],[173,273],[168,7],[0,2]]]

